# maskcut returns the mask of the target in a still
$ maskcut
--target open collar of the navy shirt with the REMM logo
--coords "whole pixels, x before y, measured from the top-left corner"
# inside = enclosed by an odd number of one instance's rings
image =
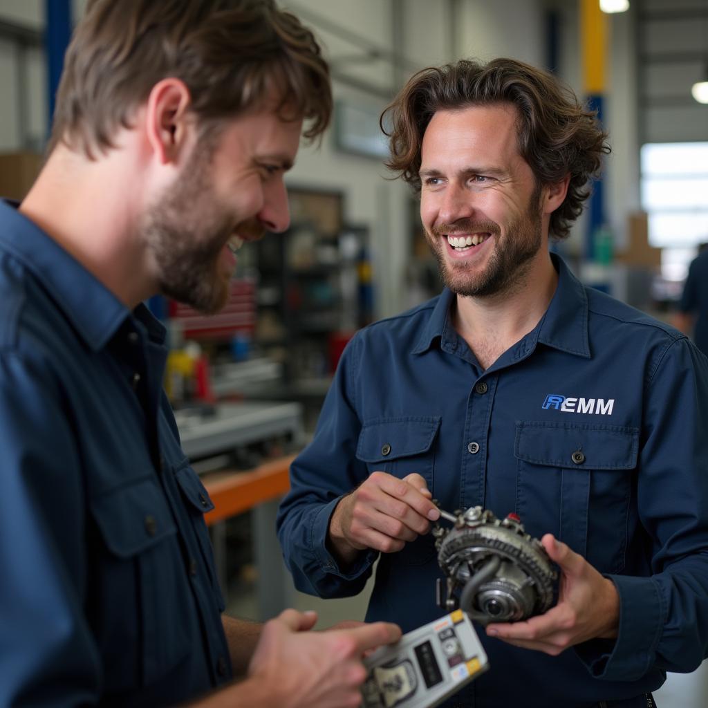
[[[571,354],[590,358],[588,342],[588,296],[582,283],[571,273],[566,263],[556,253],[551,260],[558,271],[556,292],[539,326],[530,336],[535,341],[527,341],[525,350],[535,347],[537,342]],[[433,314],[421,332],[413,354],[422,354],[432,346],[436,337],[445,334],[450,318],[450,305],[455,295],[445,288],[435,304]]]

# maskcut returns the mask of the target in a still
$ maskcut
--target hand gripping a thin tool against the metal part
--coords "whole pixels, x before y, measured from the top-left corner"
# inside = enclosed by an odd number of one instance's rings
[[[341,561],[350,563],[372,548],[383,553],[400,551],[406,542],[430,530],[440,512],[430,501],[420,474],[399,479],[372,472],[336,506],[329,524],[329,541]]]

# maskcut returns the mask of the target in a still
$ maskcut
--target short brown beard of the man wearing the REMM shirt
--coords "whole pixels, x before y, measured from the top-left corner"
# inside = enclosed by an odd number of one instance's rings
[[[527,210],[508,224],[506,236],[500,240],[501,228],[493,221],[459,219],[453,224],[440,224],[428,232],[428,246],[438,261],[440,278],[455,295],[464,297],[489,297],[506,292],[523,280],[530,270],[531,261],[543,243],[542,215],[539,204],[540,186],[531,195]],[[474,273],[469,263],[448,261],[445,258],[445,234],[489,233],[496,244],[489,257],[489,263],[482,273]]]

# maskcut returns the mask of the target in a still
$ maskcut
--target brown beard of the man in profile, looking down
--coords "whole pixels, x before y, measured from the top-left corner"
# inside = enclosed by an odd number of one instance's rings
[[[219,269],[224,245],[236,232],[253,237],[263,232],[255,219],[239,224],[214,196],[213,153],[210,144],[195,148],[175,183],[148,207],[141,227],[160,292],[204,314],[222,309],[229,295],[229,280]]]

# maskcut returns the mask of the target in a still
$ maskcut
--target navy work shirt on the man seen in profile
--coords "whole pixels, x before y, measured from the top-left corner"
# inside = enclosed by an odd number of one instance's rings
[[[0,202],[0,705],[174,705],[231,678],[164,338]]]

